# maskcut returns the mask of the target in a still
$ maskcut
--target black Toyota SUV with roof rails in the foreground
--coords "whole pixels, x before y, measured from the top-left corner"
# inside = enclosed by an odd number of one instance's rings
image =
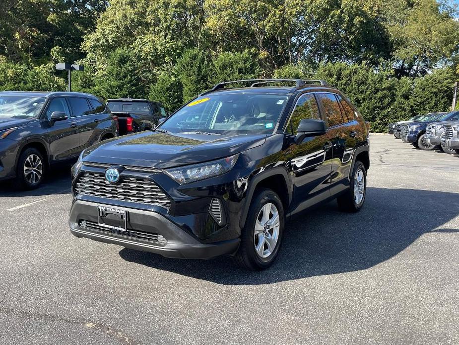
[[[77,237],[262,269],[293,214],[333,198],[359,211],[369,165],[367,125],[336,88],[221,83],[153,131],[86,149],[69,225]]]

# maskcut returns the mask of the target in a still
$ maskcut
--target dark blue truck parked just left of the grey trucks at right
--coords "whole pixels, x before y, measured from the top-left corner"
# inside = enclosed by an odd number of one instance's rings
[[[432,122],[449,121],[455,116],[456,112],[436,113],[421,121],[414,121],[401,126],[401,140],[405,143],[412,144],[417,149],[430,151],[435,149],[435,145],[429,145],[426,140],[427,125]]]

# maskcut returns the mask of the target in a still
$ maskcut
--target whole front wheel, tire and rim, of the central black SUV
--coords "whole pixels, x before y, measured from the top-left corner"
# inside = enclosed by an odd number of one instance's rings
[[[258,190],[242,229],[237,264],[252,270],[269,267],[279,252],[283,228],[284,208],[279,196],[270,189]]]

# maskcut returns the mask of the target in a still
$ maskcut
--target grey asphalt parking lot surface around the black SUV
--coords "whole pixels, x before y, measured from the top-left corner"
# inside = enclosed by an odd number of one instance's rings
[[[287,223],[276,263],[73,237],[68,169],[0,185],[0,344],[459,344],[459,156],[372,135],[364,209]]]

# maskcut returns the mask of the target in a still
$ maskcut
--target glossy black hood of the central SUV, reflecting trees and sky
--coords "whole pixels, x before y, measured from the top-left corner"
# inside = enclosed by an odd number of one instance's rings
[[[96,144],[85,162],[146,168],[172,168],[212,161],[262,145],[265,134],[221,136],[146,131]]]

